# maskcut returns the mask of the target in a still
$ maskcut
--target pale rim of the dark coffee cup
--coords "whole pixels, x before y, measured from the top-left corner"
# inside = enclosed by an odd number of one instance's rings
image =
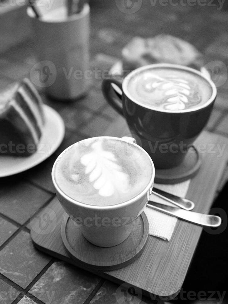
[[[151,69],[151,68],[173,68],[173,69],[181,69],[181,70],[185,70],[185,71],[189,71],[193,74],[197,74],[200,77],[202,77],[206,82],[208,82],[208,84],[210,85],[211,89],[212,89],[212,94],[211,97],[208,99],[207,102],[203,103],[203,105],[198,106],[198,107],[194,107],[192,109],[184,109],[184,110],[162,110],[162,109],[157,109],[155,107],[150,107],[149,105],[144,105],[143,103],[139,102],[136,100],[136,98],[134,98],[133,96],[130,96],[129,91],[127,90],[127,85],[130,81],[130,79],[132,78],[132,76],[136,73],[140,73],[141,71],[147,70],[147,69]],[[145,108],[145,109],[149,109],[149,110],[153,110],[155,112],[160,112],[160,113],[176,113],[176,114],[181,114],[181,113],[190,113],[190,112],[195,112],[201,109],[206,108],[208,105],[210,105],[216,98],[217,96],[217,88],[215,83],[213,83],[213,81],[211,79],[209,79],[206,75],[204,75],[202,72],[196,70],[196,69],[192,69],[190,67],[184,66],[184,65],[175,65],[175,64],[171,64],[171,63],[157,63],[157,64],[151,64],[151,65],[145,65],[142,66],[140,68],[134,69],[133,71],[131,71],[129,74],[127,74],[127,76],[123,79],[123,84],[122,84],[122,89],[124,94],[134,103],[136,103],[137,105],[140,105],[141,107]]]

